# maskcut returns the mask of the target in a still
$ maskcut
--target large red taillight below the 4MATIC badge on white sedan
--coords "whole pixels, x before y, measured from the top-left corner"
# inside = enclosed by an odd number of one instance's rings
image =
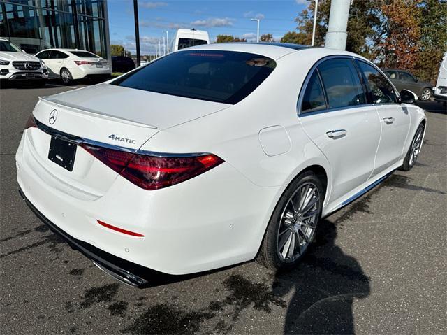
[[[145,190],[158,190],[182,183],[208,171],[223,159],[212,154],[188,157],[150,156],[82,144],[82,148]]]

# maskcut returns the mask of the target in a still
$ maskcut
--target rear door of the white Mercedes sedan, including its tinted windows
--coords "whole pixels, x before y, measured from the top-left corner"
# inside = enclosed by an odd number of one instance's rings
[[[376,108],[367,105],[365,90],[351,58],[323,60],[300,97],[302,128],[328,159],[336,201],[371,175],[380,139]],[[342,199],[340,199],[342,200]]]

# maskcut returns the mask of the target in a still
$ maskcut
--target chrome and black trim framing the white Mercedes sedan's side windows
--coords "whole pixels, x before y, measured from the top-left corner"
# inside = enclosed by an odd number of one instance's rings
[[[297,110],[298,117],[305,117],[305,116],[311,116],[311,115],[317,115],[317,114],[329,113],[329,112],[335,112],[335,111],[344,111],[346,109],[364,108],[364,107],[368,107],[368,106],[383,106],[383,105],[393,105],[393,104],[397,105],[397,102],[395,102],[395,103],[386,103],[386,104],[385,103],[381,103],[381,104],[361,104],[361,105],[346,106],[346,107],[325,108],[325,109],[322,109],[320,111],[313,111],[313,112],[307,112],[307,113],[306,112],[302,112],[301,111],[302,99],[304,98],[304,95],[305,95],[305,92],[306,92],[306,89],[307,89],[307,85],[309,84],[309,80],[312,77],[312,75],[314,74],[314,71],[317,71],[318,77],[320,78],[321,84],[323,85],[320,73],[317,70],[318,65],[320,65],[323,62],[325,62],[328,59],[340,59],[340,58],[342,58],[342,59],[343,58],[344,59],[351,59],[354,62],[355,61],[360,61],[360,62],[364,62],[365,64],[368,64],[370,66],[373,66],[374,69],[378,70],[379,73],[381,73],[381,75],[384,76],[386,78],[386,80],[388,80],[388,83],[390,83],[390,85],[395,90],[396,99],[397,100],[399,99],[399,94],[397,93],[396,87],[393,85],[393,83],[391,83],[391,81],[388,79],[388,77],[385,76],[385,74],[383,74],[383,71],[381,71],[381,69],[379,69],[379,67],[377,67],[372,62],[365,61],[365,59],[360,59],[360,58],[355,57],[355,56],[330,55],[330,56],[326,56],[326,57],[323,57],[321,59],[318,59],[318,61],[312,66],[312,68],[307,73],[305,81],[301,85],[300,94],[298,95],[298,101],[297,101],[297,105],[296,105],[296,110]],[[354,64],[354,66],[357,66],[357,64]],[[360,69],[358,69],[358,70],[360,71]],[[362,74],[362,73],[358,73],[358,76],[360,76],[360,74]],[[360,82],[362,83],[362,87],[364,87],[363,76],[361,76],[359,79],[360,79]],[[325,99],[327,99],[324,86],[323,86],[323,94],[325,95]],[[328,101],[326,100],[326,106],[328,106],[327,104],[328,104]]]

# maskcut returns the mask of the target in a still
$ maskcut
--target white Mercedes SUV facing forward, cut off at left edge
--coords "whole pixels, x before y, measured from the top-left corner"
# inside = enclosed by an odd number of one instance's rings
[[[37,85],[45,85],[47,78],[44,62],[0,37],[0,81],[33,80]]]

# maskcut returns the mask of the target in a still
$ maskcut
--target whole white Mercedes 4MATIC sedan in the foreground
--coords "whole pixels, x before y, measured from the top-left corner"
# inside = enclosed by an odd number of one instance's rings
[[[251,259],[288,268],[320,218],[415,164],[416,100],[350,52],[200,45],[41,97],[17,180],[45,224],[131,285]]]

